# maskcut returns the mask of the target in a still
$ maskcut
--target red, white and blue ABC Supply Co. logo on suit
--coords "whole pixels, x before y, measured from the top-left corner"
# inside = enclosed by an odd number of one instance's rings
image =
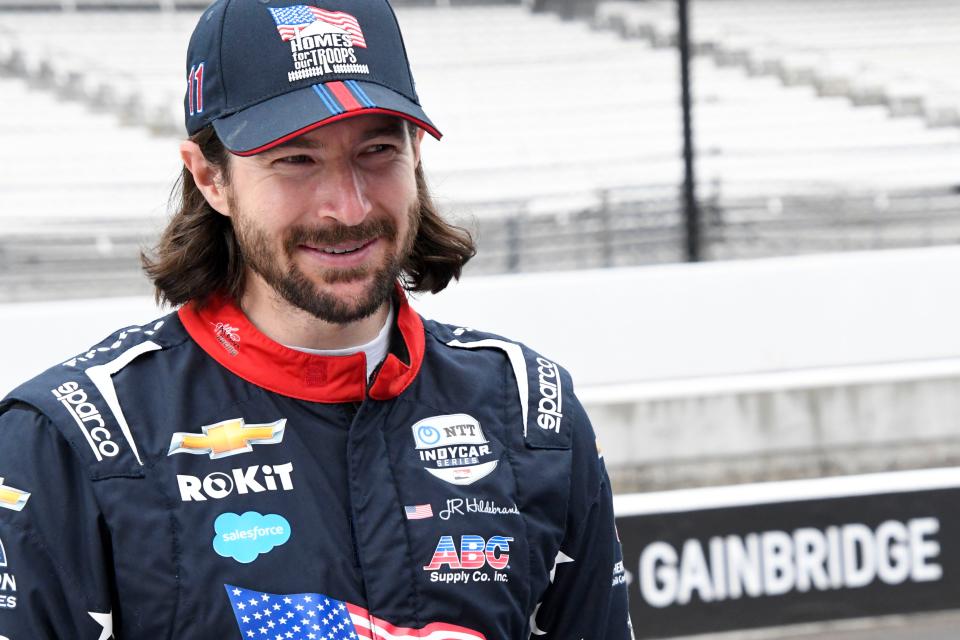
[[[430,564],[423,567],[430,571],[430,582],[466,584],[468,582],[509,582],[510,576],[503,569],[510,568],[510,543],[513,538],[492,536],[460,536],[459,552],[453,536],[440,536]],[[491,574],[484,571],[493,569]],[[446,569],[446,571],[444,571]]]

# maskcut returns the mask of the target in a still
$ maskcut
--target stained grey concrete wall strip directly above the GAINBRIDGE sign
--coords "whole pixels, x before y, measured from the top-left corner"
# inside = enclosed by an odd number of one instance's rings
[[[780,377],[663,397],[588,393],[618,492],[960,464],[960,360]]]

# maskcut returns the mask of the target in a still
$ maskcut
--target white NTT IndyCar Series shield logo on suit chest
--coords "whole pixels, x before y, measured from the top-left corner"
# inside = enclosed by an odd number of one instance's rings
[[[450,484],[473,484],[497,468],[480,423],[465,413],[421,420],[413,440],[423,468]]]

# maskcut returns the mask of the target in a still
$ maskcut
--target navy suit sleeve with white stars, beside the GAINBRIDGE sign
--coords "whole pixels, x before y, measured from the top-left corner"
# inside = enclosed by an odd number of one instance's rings
[[[531,623],[542,640],[632,640],[623,554],[603,458],[577,405],[566,534]]]

